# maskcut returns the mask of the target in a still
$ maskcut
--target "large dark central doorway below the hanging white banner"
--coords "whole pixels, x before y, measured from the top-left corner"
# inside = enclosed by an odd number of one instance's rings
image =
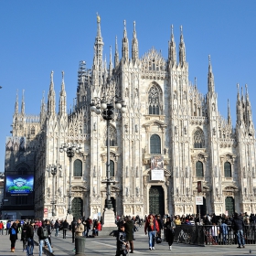
[[[165,193],[161,186],[152,186],[149,189],[149,213],[165,214]]]

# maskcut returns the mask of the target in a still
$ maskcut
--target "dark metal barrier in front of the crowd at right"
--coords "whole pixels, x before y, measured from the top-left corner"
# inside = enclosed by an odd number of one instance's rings
[[[256,224],[246,225],[243,235],[245,244],[256,244]],[[236,233],[229,225],[176,225],[174,240],[201,246],[237,244]]]

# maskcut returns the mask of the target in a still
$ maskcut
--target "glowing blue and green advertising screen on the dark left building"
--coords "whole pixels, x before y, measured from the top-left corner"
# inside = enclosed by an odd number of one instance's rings
[[[33,175],[6,175],[5,180],[6,196],[25,196],[34,190]]]

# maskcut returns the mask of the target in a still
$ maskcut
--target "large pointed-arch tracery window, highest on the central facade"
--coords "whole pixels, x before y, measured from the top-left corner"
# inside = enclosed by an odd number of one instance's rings
[[[148,91],[148,113],[160,114],[160,101],[162,98],[162,91],[154,84]]]

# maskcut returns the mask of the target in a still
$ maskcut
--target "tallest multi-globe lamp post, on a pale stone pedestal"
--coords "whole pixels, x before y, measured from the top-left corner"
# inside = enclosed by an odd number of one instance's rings
[[[115,105],[113,104],[113,100],[116,99]],[[107,121],[107,189],[106,195],[107,198],[105,200],[105,209],[112,209],[112,200],[111,200],[111,159],[110,159],[110,122],[114,116],[115,108],[121,110],[121,112],[126,112],[126,106],[124,105],[124,101],[119,96],[114,96],[112,99],[107,102],[105,97],[101,99],[97,98],[91,101],[90,104],[91,112],[95,112],[96,114],[101,114],[102,118]]]

